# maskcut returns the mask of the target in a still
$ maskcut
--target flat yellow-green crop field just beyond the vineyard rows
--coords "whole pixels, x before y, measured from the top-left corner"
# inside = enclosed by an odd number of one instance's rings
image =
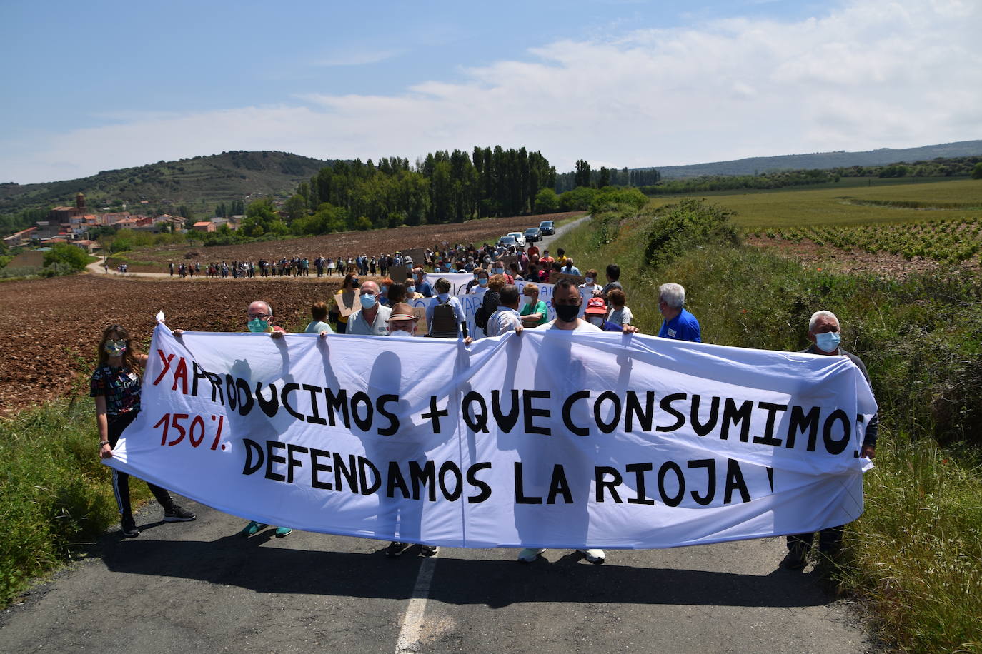
[[[736,211],[736,224],[751,229],[982,219],[982,180],[978,179],[734,193],[708,199]],[[656,202],[678,201],[673,197]]]

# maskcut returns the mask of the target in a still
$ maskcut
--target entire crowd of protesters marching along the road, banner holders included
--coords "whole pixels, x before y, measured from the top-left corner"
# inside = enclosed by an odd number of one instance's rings
[[[528,250],[537,250],[534,246]],[[428,250],[426,263],[434,272],[450,271],[471,273],[464,289],[465,293],[481,296],[481,306],[475,316],[475,330],[478,333],[468,333],[464,307],[458,297],[451,294],[452,284],[447,277],[439,277],[435,283],[426,279],[426,270],[422,265],[409,269],[409,277],[393,279],[385,274],[394,266],[412,265],[397,253],[389,257],[356,257],[355,260],[340,259],[345,262],[344,279],[340,297],[344,304],[345,296],[349,296],[352,305],[339,306],[326,302],[314,302],[310,307],[310,322],[304,327],[305,333],[316,333],[328,337],[335,333],[363,334],[370,336],[385,336],[406,338],[416,335],[431,337],[461,338],[466,342],[484,336],[499,336],[509,331],[520,332],[523,329],[564,329],[574,333],[621,331],[635,332],[633,315],[627,307],[627,295],[622,285],[621,269],[617,264],[611,264],[605,269],[606,283],[601,284],[596,270],[587,270],[580,276],[569,257],[562,249],[556,251],[556,257],[544,250],[529,254],[524,248],[513,252],[502,252],[498,248],[484,245],[481,248],[467,247],[447,248],[443,251]],[[505,265],[505,258],[510,259],[510,265]],[[380,264],[380,260],[384,263]],[[281,260],[274,269],[284,271],[303,271],[306,267],[297,259]],[[323,258],[314,260],[315,268],[320,275],[321,269],[332,271],[332,260]],[[396,262],[399,262],[398,264]],[[318,263],[319,262],[319,263]],[[351,262],[351,263],[349,263]],[[242,266],[242,264],[238,264]],[[208,271],[213,266],[208,266]],[[266,270],[268,265],[260,267]],[[233,270],[236,266],[233,266]],[[224,268],[220,269],[224,270]],[[244,269],[240,268],[240,272]],[[253,271],[251,264],[245,270]],[[337,270],[337,266],[333,271]],[[333,272],[332,271],[332,272]],[[574,271],[574,272],[573,272]],[[377,274],[377,275],[376,275]],[[382,277],[381,279],[360,280],[359,276]],[[582,277],[579,281],[577,277]],[[516,281],[523,281],[519,289]],[[549,320],[549,308],[540,299],[539,283],[552,283],[552,307],[556,318]],[[427,325],[426,334],[417,333],[420,316],[413,311],[409,301],[422,297],[435,297],[436,302],[430,303],[425,311]],[[355,300],[356,298],[356,300]],[[356,305],[355,305],[356,302]],[[673,282],[663,283],[658,289],[658,311],[662,323],[658,336],[669,339],[701,342],[701,328],[695,316],[685,309],[685,289]],[[585,303],[585,307],[583,304]],[[271,304],[265,300],[255,300],[246,310],[245,327],[251,332],[269,333],[273,338],[282,337],[286,331],[276,324]],[[580,318],[582,316],[582,318]],[[840,324],[834,314],[827,311],[816,312],[808,325],[808,339],[811,345],[803,350],[810,354],[841,355],[851,359],[860,369],[863,376],[869,379],[862,362],[855,355],[846,352],[840,346]],[[181,337],[182,330],[175,329],[176,336]],[[100,438],[100,456],[111,457],[112,448],[120,437],[123,429],[133,420],[139,411],[139,369],[145,362],[146,356],[139,354],[133,347],[129,333],[119,325],[107,327],[99,343],[99,366],[92,375],[91,395],[96,401],[96,423]],[[874,417],[866,429],[861,455],[873,458],[875,453],[877,423]],[[123,474],[113,473],[113,484],[125,536],[136,536],[139,533],[133,520],[129,503],[129,488],[127,478]],[[194,514],[183,510],[174,504],[168,492],[151,484],[151,490],[164,508],[165,521],[190,521]],[[243,529],[245,535],[252,535],[267,526],[249,522]],[[291,528],[276,528],[277,536],[286,536]],[[819,535],[819,549],[823,554],[832,556],[842,542],[843,528],[823,529]],[[804,567],[806,555],[811,548],[810,533],[788,536],[789,553],[783,565],[789,569]],[[409,543],[391,542],[386,548],[387,556],[396,557],[409,548]],[[437,553],[435,546],[423,546],[424,556]],[[530,562],[541,555],[543,550],[526,548],[518,554],[518,561]],[[600,549],[582,549],[582,556],[594,564],[601,564],[606,554]]]

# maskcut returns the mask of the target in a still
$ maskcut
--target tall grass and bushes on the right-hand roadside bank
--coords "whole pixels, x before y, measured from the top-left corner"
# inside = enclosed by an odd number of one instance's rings
[[[964,271],[903,281],[834,275],[726,242],[651,265],[652,225],[678,210],[652,203],[609,244],[588,224],[556,245],[580,270],[620,264],[645,333],[661,324],[654,305],[666,281],[685,286],[704,342],[798,350],[811,314],[835,312],[844,347],[869,369],[881,414],[866,512],[846,529],[842,587],[900,649],[982,651],[982,280]],[[701,205],[692,213],[698,221],[719,212]]]

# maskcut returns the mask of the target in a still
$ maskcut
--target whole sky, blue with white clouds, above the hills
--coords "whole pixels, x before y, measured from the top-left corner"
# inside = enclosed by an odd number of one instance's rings
[[[560,171],[982,138],[975,0],[0,3],[0,181],[222,150]]]

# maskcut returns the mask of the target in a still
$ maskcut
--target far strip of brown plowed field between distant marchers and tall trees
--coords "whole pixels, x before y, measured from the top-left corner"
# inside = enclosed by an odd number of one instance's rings
[[[394,229],[372,229],[370,231],[345,231],[324,236],[309,236],[306,238],[289,238],[286,240],[262,241],[258,243],[243,243],[240,245],[218,245],[214,247],[190,246],[188,244],[166,245],[159,248],[139,250],[132,255],[127,253],[134,262],[130,270],[141,273],[164,273],[171,261],[180,264],[186,261],[189,252],[197,254],[193,261],[222,262],[222,261],[258,261],[265,259],[275,261],[286,257],[307,257],[311,261],[318,255],[336,259],[356,257],[361,254],[368,256],[392,254],[397,250],[416,247],[432,248],[444,242],[481,243],[497,242],[509,231],[522,231],[527,227],[538,226],[541,221],[559,221],[582,216],[583,212],[565,214],[544,214],[539,216],[517,216],[512,218],[483,219],[467,221],[466,223],[451,223],[447,225],[423,225],[414,227],[396,227]],[[143,265],[146,262],[150,265]]]

